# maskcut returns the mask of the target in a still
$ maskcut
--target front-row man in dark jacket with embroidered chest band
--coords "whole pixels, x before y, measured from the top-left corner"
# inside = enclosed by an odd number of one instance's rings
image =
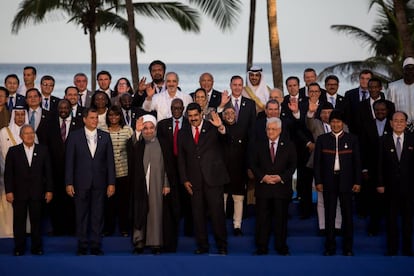
[[[361,189],[361,161],[357,138],[344,131],[343,115],[332,111],[329,116],[332,132],[316,140],[314,172],[315,187],[323,192],[325,206],[325,256],[336,254],[335,214],[339,198],[342,213],[342,254],[353,256],[352,192]]]

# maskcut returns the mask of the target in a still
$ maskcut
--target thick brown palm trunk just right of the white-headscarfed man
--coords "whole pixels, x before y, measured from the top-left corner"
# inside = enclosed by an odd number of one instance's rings
[[[276,0],[267,0],[267,23],[269,25],[269,44],[270,58],[272,61],[273,86],[280,88],[283,91],[282,59],[280,56],[276,2]]]

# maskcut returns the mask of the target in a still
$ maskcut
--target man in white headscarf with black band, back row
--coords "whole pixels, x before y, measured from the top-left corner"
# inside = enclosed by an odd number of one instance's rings
[[[250,67],[247,71],[247,85],[243,89],[242,95],[256,103],[256,114],[265,109],[265,104],[269,100],[270,88],[266,85],[263,69],[259,66]]]

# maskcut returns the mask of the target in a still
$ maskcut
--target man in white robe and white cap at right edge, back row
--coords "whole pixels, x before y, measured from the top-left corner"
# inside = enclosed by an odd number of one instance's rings
[[[395,104],[395,110],[408,115],[408,129],[414,131],[414,58],[407,57],[403,62],[403,78],[388,85],[387,100]]]

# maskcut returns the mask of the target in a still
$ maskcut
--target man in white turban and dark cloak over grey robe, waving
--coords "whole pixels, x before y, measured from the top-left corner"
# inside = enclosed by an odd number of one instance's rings
[[[175,167],[167,155],[167,146],[157,138],[157,120],[153,115],[137,120],[135,134],[128,142],[133,254],[142,254],[144,246],[149,246],[155,255],[161,251],[175,252],[177,248]]]

